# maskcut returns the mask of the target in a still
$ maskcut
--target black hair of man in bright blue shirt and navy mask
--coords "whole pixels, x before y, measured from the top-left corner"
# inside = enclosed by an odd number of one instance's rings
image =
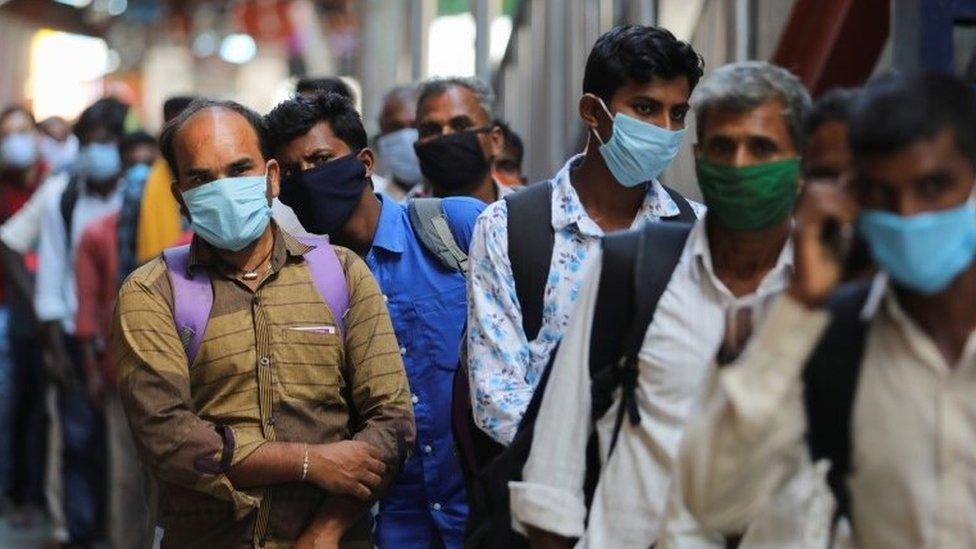
[[[308,133],[319,122],[328,122],[332,133],[349,145],[353,153],[367,146],[362,118],[352,101],[338,93],[318,92],[282,101],[264,117],[264,121],[273,154]]]

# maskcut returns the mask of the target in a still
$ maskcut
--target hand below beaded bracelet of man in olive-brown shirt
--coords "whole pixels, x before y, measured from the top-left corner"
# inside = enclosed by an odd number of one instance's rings
[[[382,457],[375,446],[358,440],[310,445],[308,480],[334,494],[368,501],[383,482]]]

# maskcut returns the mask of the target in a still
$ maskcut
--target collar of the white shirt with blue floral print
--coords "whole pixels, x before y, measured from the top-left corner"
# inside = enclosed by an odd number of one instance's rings
[[[570,181],[570,173],[582,162],[585,153],[580,153],[566,162],[563,167],[556,172],[550,181],[552,186],[552,228],[560,231],[571,225],[576,225],[580,232],[603,236],[603,230],[586,213],[586,208],[580,202],[579,195]],[[678,205],[671,199],[671,195],[664,190],[656,179],[645,184],[647,194],[644,195],[644,202],[641,204],[637,216],[634,218],[633,227],[640,226],[644,221],[657,221],[661,218],[675,217],[680,214]]]

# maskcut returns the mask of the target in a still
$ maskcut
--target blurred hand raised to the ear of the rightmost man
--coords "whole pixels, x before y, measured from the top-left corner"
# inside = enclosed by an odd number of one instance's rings
[[[852,236],[858,206],[843,187],[808,182],[796,208],[793,228],[794,266],[790,295],[817,307],[843,275],[845,241]]]

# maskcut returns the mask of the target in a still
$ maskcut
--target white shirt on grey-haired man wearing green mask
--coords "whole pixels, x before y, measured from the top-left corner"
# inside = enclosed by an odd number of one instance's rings
[[[639,354],[636,398],[639,425],[624,421],[617,446],[604,464],[584,532],[583,480],[590,421],[590,334],[600,279],[599,249],[577,309],[566,328],[535,422],[523,482],[509,484],[513,527],[532,525],[566,537],[577,547],[648,547],[657,539],[672,464],[689,416],[696,410],[726,319],[743,308],[761,316],[787,286],[792,245],[753,294],[735,297],[712,268],[705,221],[692,229]],[[619,403],[619,394],[618,394]],[[605,459],[618,403],[597,421]]]

